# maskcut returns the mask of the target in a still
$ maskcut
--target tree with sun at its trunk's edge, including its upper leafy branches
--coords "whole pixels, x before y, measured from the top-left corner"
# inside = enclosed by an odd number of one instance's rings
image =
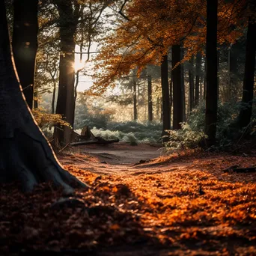
[[[56,127],[54,133],[55,144],[59,144],[61,142],[70,142],[74,124],[76,106],[74,60],[77,28],[80,25],[80,30],[82,30],[79,42],[80,46],[85,43],[84,39],[88,43],[87,53],[89,60],[92,37],[95,37],[98,32],[97,23],[103,10],[108,6],[109,1],[52,1],[58,8],[58,28],[61,48],[56,114],[63,115],[65,121],[70,124],[70,127],[61,127],[63,129]]]

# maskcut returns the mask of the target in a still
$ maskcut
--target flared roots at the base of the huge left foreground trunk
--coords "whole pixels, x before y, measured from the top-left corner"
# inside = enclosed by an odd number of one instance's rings
[[[0,182],[19,181],[24,192],[31,192],[38,183],[52,182],[62,187],[65,195],[73,195],[74,187],[88,189],[64,170],[47,144],[16,131],[13,138],[0,138]]]

